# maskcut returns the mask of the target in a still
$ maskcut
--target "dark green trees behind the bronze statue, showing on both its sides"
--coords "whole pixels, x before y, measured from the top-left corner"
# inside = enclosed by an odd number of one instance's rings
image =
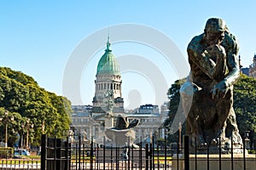
[[[185,79],[177,80],[168,89],[169,98],[169,117],[166,119],[165,126],[168,128],[176,116],[177,108],[180,102],[179,89],[185,82]],[[238,82],[234,85],[234,105],[236,112],[236,122],[241,137],[249,131],[249,138],[256,139],[256,79],[241,74]],[[185,123],[183,123],[183,134],[185,133]],[[168,137],[171,142],[177,141],[177,133]]]

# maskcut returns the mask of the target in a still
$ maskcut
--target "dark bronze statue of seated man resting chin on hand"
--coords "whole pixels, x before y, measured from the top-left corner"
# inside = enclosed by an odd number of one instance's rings
[[[211,18],[187,48],[190,74],[180,89],[193,144],[242,144],[233,109],[233,85],[240,75],[238,42],[224,20]],[[189,103],[191,102],[191,103]]]

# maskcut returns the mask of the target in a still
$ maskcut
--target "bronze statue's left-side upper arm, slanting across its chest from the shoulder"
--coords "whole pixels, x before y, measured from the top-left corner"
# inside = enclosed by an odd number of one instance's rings
[[[212,78],[215,63],[210,59],[207,50],[201,46],[201,38],[194,37],[187,48],[189,62],[197,65],[208,77]]]

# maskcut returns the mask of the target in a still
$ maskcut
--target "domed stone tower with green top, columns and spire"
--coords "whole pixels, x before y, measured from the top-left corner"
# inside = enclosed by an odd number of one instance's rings
[[[92,113],[94,116],[109,111],[114,116],[124,113],[124,99],[122,98],[121,84],[119,63],[112,54],[108,37],[107,48],[97,65],[95,96],[92,101]]]

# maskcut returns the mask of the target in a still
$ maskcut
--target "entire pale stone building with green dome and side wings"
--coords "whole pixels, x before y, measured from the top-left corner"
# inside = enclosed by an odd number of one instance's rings
[[[95,96],[91,105],[73,105],[72,122],[75,129],[86,135],[87,142],[93,137],[97,144],[102,144],[106,128],[114,127],[117,117],[124,114],[128,122],[139,120],[134,127],[136,139],[149,139],[156,131],[163,138],[164,131],[160,125],[166,119],[168,111],[160,114],[157,105],[141,105],[139,109],[125,113],[122,98],[122,79],[119,63],[110,49],[108,38],[107,47],[96,68]],[[75,139],[79,142],[79,139]],[[88,143],[90,144],[90,143]]]

